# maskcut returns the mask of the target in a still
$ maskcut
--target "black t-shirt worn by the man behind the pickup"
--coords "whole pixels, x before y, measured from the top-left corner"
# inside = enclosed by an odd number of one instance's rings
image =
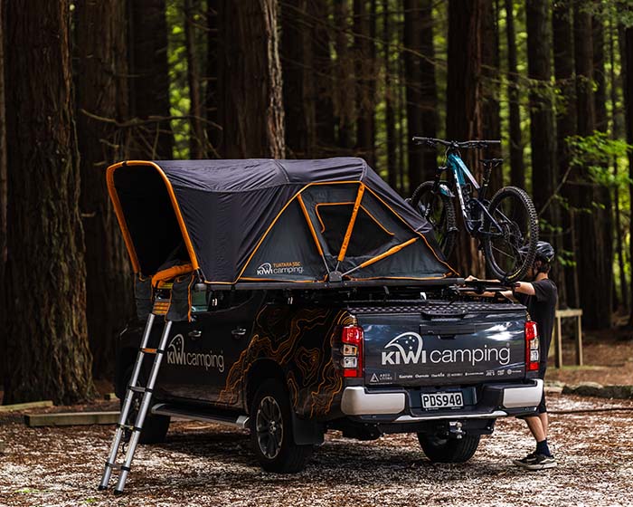
[[[534,296],[528,296],[519,292],[515,293],[516,299],[527,307],[530,318],[536,322],[541,349],[541,368],[547,363],[547,353],[552,340],[553,322],[556,313],[556,301],[558,301],[558,289],[549,278],[543,278],[538,282],[531,282],[534,287]]]

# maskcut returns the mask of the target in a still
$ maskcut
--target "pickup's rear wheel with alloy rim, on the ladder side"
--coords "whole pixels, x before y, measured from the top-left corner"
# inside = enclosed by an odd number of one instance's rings
[[[276,379],[264,381],[250,405],[250,443],[267,472],[301,472],[312,445],[297,445],[292,434],[288,393]]]

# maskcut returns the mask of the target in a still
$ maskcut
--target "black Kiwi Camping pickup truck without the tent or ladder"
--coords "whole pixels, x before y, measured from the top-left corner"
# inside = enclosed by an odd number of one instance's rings
[[[464,462],[497,417],[541,399],[535,325],[519,304],[451,287],[222,296],[194,292],[194,320],[172,328],[141,442],[182,416],[249,428],[275,472],[301,470],[328,429],[416,433],[431,461]],[[121,399],[141,332],[120,336]]]

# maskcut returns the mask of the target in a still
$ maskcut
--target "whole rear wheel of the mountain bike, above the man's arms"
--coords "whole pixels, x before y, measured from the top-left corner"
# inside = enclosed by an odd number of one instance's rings
[[[499,280],[516,282],[534,263],[538,243],[538,216],[530,196],[518,187],[501,188],[493,196],[484,220],[482,239],[487,268]],[[526,253],[520,253],[520,250]]]

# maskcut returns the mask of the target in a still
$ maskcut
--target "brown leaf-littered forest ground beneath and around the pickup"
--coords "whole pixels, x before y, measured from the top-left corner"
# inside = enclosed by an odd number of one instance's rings
[[[599,340],[600,339],[600,340]],[[565,363],[573,342],[565,342]],[[633,340],[586,337],[585,366],[551,368],[550,380],[633,384]],[[108,390],[108,384],[99,384]],[[0,416],[0,506],[31,505],[630,505],[633,400],[550,396],[559,466],[526,473],[511,460],[532,450],[524,422],[499,419],[467,464],[431,464],[415,435],[374,442],[326,436],[307,469],[265,474],[248,433],[175,421],[165,444],[137,450],[126,494],[98,492],[112,426],[30,428],[22,413]],[[30,412],[112,410],[116,402]]]

